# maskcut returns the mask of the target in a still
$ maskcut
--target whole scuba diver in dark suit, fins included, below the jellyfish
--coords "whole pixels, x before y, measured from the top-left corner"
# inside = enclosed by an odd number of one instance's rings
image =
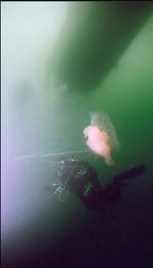
[[[57,182],[50,186],[43,186],[43,188],[55,194],[59,193],[59,199],[64,190],[67,193],[71,191],[80,198],[85,207],[101,211],[108,204],[119,202],[121,186],[127,185],[124,180],[136,177],[143,172],[145,172],[145,166],[138,165],[112,177],[112,183],[101,188],[96,170],[89,163],[62,157],[57,161],[55,174]]]

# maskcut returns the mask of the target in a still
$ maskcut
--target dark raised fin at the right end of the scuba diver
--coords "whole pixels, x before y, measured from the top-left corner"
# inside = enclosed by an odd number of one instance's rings
[[[117,176],[112,177],[112,180],[114,182],[124,181],[124,179],[131,179],[133,177],[140,175],[143,172],[145,172],[145,165],[138,165],[134,168],[131,168],[130,170],[127,170],[126,172],[123,172],[121,174],[118,174]]]

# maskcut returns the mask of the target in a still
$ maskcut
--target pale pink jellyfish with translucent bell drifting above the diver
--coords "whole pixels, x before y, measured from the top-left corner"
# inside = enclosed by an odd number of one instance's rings
[[[92,112],[90,117],[90,125],[83,131],[87,138],[87,146],[94,154],[102,156],[106,165],[112,166],[114,164],[112,151],[119,149],[115,127],[105,113]]]

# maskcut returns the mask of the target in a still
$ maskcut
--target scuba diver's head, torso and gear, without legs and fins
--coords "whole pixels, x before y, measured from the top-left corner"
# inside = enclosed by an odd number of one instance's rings
[[[101,188],[96,170],[89,163],[75,160],[74,158],[60,158],[57,161],[57,170],[54,176],[57,179],[56,183],[50,186],[43,186],[45,190],[53,193],[60,193],[62,189],[67,189],[82,198],[87,187]]]

